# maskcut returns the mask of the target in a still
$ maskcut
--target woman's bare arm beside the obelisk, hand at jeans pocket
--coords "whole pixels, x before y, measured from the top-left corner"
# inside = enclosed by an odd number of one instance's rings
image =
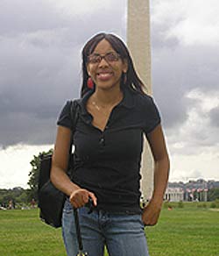
[[[164,134],[160,124],[147,135],[147,139],[154,159],[154,188],[152,199],[143,210],[142,218],[146,225],[154,225],[158,222],[159,213],[162,208],[170,162],[166,151]]]

